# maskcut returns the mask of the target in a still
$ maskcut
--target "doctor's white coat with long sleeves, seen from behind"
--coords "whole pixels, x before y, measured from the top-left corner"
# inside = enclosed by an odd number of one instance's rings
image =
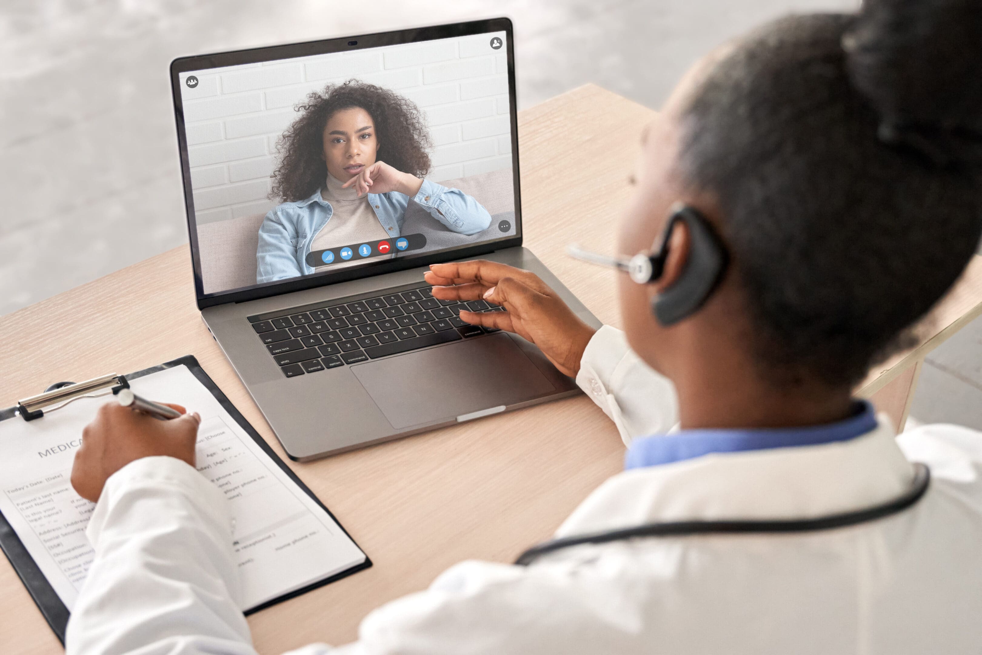
[[[676,422],[671,384],[604,327],[577,382],[626,443]],[[928,425],[819,446],[627,470],[557,536],[680,519],[790,519],[893,499],[931,466],[913,508],[836,530],[647,538],[531,566],[464,562],[365,618],[356,643],[302,655],[982,653],[982,434]],[[191,466],[129,464],[88,528],[96,559],[70,655],[252,654],[224,500]],[[324,608],[329,621],[331,608]]]

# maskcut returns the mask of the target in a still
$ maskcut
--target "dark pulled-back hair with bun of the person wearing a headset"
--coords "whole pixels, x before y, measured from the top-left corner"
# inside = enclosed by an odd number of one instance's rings
[[[982,2],[866,0],[750,34],[682,111],[761,372],[853,385],[982,236]]]

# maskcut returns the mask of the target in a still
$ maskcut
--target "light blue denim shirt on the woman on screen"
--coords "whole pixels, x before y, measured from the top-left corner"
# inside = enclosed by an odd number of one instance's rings
[[[390,237],[401,236],[409,195],[398,191],[368,193],[378,222]],[[472,235],[491,225],[491,215],[464,191],[448,189],[424,180],[412,201],[454,232]],[[334,208],[320,190],[305,200],[284,202],[269,210],[259,226],[256,250],[257,283],[286,280],[313,273],[306,263],[310,244],[331,219]],[[340,246],[340,244],[339,244]]]

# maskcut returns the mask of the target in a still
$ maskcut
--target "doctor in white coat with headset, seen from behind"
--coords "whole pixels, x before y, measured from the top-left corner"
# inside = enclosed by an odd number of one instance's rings
[[[701,62],[643,137],[624,332],[523,271],[433,266],[434,297],[503,304],[462,317],[535,342],[617,424],[626,470],[557,534],[607,536],[465,562],[356,643],[297,652],[978,653],[982,434],[897,437],[850,389],[982,234],[979,43],[977,0],[867,0]],[[96,559],[71,655],[254,652],[221,495],[187,464],[196,425],[107,407],[86,429]]]

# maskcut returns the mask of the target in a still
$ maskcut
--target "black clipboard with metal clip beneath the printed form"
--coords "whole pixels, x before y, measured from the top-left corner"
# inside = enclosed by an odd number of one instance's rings
[[[334,520],[334,522],[338,525],[338,527],[341,528],[342,532],[344,532],[345,535],[349,539],[351,539],[352,542],[355,543],[355,545],[357,545],[355,539],[353,539],[352,536],[348,533],[348,530],[345,529],[344,525],[342,525],[341,522],[337,518],[335,518],[335,516],[331,513],[331,511],[328,510],[327,507],[320,502],[320,499],[318,499],[314,495],[314,493],[310,491],[310,489],[307,488],[307,486],[303,484],[303,482],[300,481],[300,478],[297,477],[296,473],[294,473],[294,471],[290,468],[290,466],[284,463],[283,460],[281,460],[279,456],[277,456],[276,453],[273,452],[273,449],[269,447],[269,444],[266,443],[266,440],[263,439],[258,432],[256,432],[255,428],[252,427],[252,425],[246,420],[246,417],[243,416],[242,413],[240,413],[239,409],[236,409],[236,407],[232,404],[232,402],[228,399],[228,397],[226,397],[225,394],[222,393],[222,390],[218,388],[218,385],[216,385],[214,381],[212,381],[212,379],[208,377],[208,374],[204,372],[204,369],[201,368],[201,365],[198,363],[197,359],[193,355],[185,355],[178,359],[174,359],[172,361],[168,361],[159,364],[157,366],[144,368],[141,371],[136,371],[136,373],[131,373],[129,375],[113,374],[113,375],[103,376],[102,378],[96,378],[95,380],[89,380],[88,382],[91,383],[91,385],[89,386],[83,386],[86,383],[80,383],[79,385],[75,385],[67,382],[59,382],[55,385],[52,385],[52,387],[49,387],[48,388],[49,391],[45,392],[45,394],[31,397],[31,399],[22,401],[15,407],[0,409],[0,421],[12,420],[15,418],[19,420],[35,420],[41,418],[41,416],[43,416],[43,409],[33,409],[33,408],[35,405],[38,404],[37,399],[41,399],[42,397],[45,396],[47,396],[47,399],[41,402],[41,405],[43,405],[44,402],[50,401],[54,394],[58,394],[57,396],[54,396],[54,398],[56,399],[54,400],[54,402],[56,403],[70,402],[72,398],[79,398],[82,395],[91,393],[92,391],[104,390],[112,386],[117,386],[118,388],[125,388],[129,386],[128,385],[129,380],[136,380],[137,378],[143,377],[144,375],[150,375],[152,373],[157,373],[162,370],[166,370],[168,368],[173,368],[175,366],[181,366],[181,365],[188,367],[194,378],[196,378],[197,381],[200,382],[201,385],[205,389],[207,389],[212,396],[215,397],[215,399],[219,402],[219,404],[221,404],[222,408],[225,409],[229,413],[229,415],[236,420],[237,423],[239,423],[240,427],[242,427],[242,429],[246,431],[246,434],[248,434],[248,436],[251,437],[253,441],[255,441],[255,443],[259,446],[259,448],[263,451],[263,453],[265,453],[270,458],[270,460],[272,460],[275,464],[277,464],[283,470],[283,472],[290,478],[290,480],[294,482],[303,493],[309,496],[311,500],[313,500],[313,502],[316,503],[318,507],[320,507],[320,509],[322,509],[325,513],[327,513],[327,515],[332,520]],[[80,387],[80,389],[73,389],[73,387]],[[72,393],[73,391],[75,393]],[[61,393],[59,394],[58,392]],[[34,401],[34,403],[28,404],[28,401]],[[27,415],[22,415],[22,412],[25,412]],[[358,546],[358,548],[361,549],[360,546]],[[51,583],[48,581],[48,579],[44,576],[43,573],[41,573],[40,568],[38,568],[33,558],[27,552],[27,548],[25,547],[24,543],[21,541],[21,538],[18,536],[17,532],[14,530],[14,528],[11,526],[11,524],[3,516],[2,513],[0,513],[0,550],[3,550],[4,555],[7,556],[7,559],[14,567],[14,571],[16,571],[18,576],[21,578],[21,581],[24,583],[24,586],[27,587],[27,592],[30,594],[30,597],[34,600],[34,603],[37,605],[37,609],[40,610],[41,615],[44,617],[44,620],[48,622],[48,626],[50,626],[51,629],[54,630],[54,633],[58,637],[58,640],[61,641],[62,645],[64,645],[65,629],[68,627],[68,620],[70,616],[69,610],[62,602],[61,598],[58,596],[58,593],[51,586]],[[364,549],[361,549],[361,552],[364,553]],[[343,577],[347,577],[352,573],[357,573],[359,571],[368,569],[371,566],[372,566],[372,562],[368,558],[367,553],[365,553],[365,560],[361,564],[355,565],[350,569],[346,569],[341,573],[336,573],[334,575],[331,575],[330,577],[317,580],[316,582],[312,582],[311,584],[303,586],[300,589],[296,589],[294,591],[285,593],[282,596],[274,598],[273,600],[262,603],[261,605],[258,605],[256,607],[250,608],[245,612],[245,614],[246,616],[248,616],[250,614],[258,612],[259,610],[263,610],[272,605],[276,605],[277,603],[281,603],[285,600],[289,600],[296,596],[300,596],[300,594],[306,593],[307,591],[310,591],[312,589],[316,589],[325,584],[329,584],[330,582],[334,582],[335,580],[339,580]]]

